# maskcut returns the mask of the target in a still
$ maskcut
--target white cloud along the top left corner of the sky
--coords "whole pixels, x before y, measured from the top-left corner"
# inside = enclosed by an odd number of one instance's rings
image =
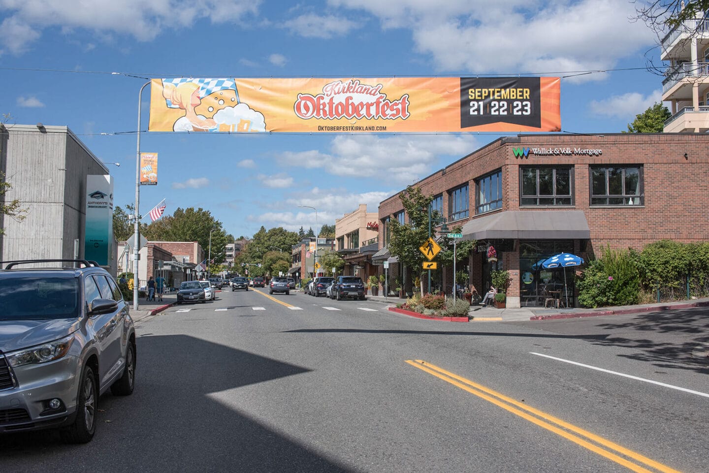
[[[38,30],[52,26],[62,30],[91,30],[131,35],[147,41],[162,28],[189,27],[201,18],[212,23],[238,22],[258,12],[260,0],[0,0],[7,18],[0,25],[4,46],[14,54],[24,52],[40,36]]]

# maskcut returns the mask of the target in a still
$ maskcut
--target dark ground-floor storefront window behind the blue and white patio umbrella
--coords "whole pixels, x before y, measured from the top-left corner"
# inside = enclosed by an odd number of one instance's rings
[[[544,306],[549,297],[566,300],[574,307],[574,268],[545,269],[542,261],[561,252],[573,253],[573,240],[520,241],[520,304],[523,307]],[[566,289],[564,289],[566,288]]]

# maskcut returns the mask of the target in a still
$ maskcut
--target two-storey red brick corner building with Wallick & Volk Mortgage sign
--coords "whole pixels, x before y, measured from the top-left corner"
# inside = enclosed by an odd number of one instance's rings
[[[543,287],[563,281],[561,269],[535,265],[542,258],[563,251],[588,261],[605,245],[640,250],[663,238],[709,240],[708,149],[703,133],[518,135],[413,185],[434,196],[432,208],[448,228],[462,227],[463,240],[476,240],[477,251],[457,266],[471,284],[483,292],[491,269],[506,269],[508,306],[531,306],[540,304]],[[381,257],[388,256],[391,218],[406,221],[398,194],[379,205]],[[390,275],[405,277],[411,292],[411,274],[398,266]],[[452,269],[438,270],[434,281],[450,292]]]

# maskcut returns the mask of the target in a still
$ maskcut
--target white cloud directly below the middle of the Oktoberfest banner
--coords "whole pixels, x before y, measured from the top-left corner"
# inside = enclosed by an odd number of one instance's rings
[[[463,157],[477,148],[471,135],[337,136],[330,153],[284,152],[283,165],[318,168],[336,176],[367,177],[392,184],[411,184],[435,171],[440,155]]]

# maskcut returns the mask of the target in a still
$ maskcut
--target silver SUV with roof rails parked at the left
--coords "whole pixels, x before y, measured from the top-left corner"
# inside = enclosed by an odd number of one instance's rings
[[[79,267],[60,267],[67,263]],[[125,396],[135,386],[128,304],[96,262],[4,264],[0,433],[60,428],[67,442],[87,443],[96,432],[99,396],[109,388]]]

